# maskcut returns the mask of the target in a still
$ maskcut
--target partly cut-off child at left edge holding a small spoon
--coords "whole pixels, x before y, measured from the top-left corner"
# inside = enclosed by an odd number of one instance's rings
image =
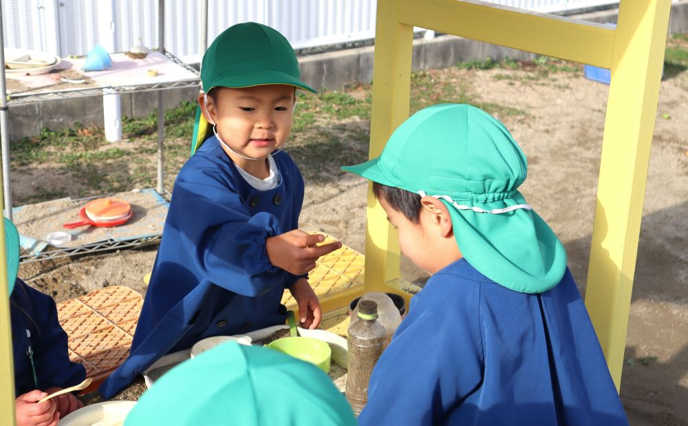
[[[14,359],[14,412],[17,426],[56,425],[58,419],[83,403],[71,393],[37,404],[48,394],[77,385],[86,377],[83,365],[69,361],[67,333],[57,319],[52,297],[17,278],[19,234],[8,219],[5,224],[12,355]]]

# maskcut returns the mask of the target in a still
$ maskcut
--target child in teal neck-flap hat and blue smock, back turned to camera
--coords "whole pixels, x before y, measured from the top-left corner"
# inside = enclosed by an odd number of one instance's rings
[[[361,425],[628,424],[502,123],[435,105],[344,169],[374,182],[401,251],[432,275],[374,368]]]

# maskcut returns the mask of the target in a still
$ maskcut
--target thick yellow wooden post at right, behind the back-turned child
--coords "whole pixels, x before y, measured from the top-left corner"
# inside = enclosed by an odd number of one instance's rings
[[[617,390],[670,8],[623,1],[615,32],[585,303]]]

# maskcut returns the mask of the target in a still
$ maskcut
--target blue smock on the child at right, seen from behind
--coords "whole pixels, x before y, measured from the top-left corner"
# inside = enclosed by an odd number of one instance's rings
[[[628,424],[570,271],[534,295],[496,284],[465,259],[411,299],[358,422]]]

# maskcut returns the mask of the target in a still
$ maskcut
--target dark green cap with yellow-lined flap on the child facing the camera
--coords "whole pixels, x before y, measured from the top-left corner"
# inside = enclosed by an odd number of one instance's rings
[[[299,61],[289,41],[267,25],[237,23],[215,38],[203,55],[201,83],[213,87],[290,85],[317,93],[300,80]],[[196,111],[191,153],[203,143],[208,123]]]

